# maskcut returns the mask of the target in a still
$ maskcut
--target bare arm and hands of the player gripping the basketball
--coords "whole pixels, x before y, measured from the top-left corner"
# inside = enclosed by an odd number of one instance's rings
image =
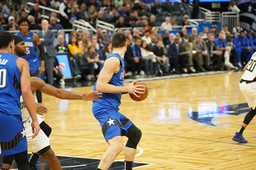
[[[113,74],[119,71],[120,60],[117,57],[110,57],[107,59],[103,65],[102,70],[99,73],[99,77],[97,79],[96,90],[102,93],[125,93],[128,92],[130,94],[144,94],[142,88],[143,85],[133,85],[130,84],[128,86],[115,86],[109,84]],[[137,95],[136,95],[137,96]]]

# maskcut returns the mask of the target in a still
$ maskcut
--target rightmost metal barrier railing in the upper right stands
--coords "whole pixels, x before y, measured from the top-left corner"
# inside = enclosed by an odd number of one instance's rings
[[[228,25],[228,31],[232,33],[233,27],[239,21],[239,13],[236,12],[222,12],[221,13],[221,28],[224,24]]]

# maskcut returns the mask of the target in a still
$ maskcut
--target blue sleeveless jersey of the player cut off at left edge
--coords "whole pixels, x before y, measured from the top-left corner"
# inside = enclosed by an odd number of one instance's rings
[[[0,53],[0,113],[21,115],[20,111],[20,70],[17,56]]]

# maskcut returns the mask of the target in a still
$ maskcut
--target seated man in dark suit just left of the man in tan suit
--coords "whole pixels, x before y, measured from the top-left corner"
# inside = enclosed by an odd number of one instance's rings
[[[180,38],[176,37],[175,42],[169,45],[167,57],[169,57],[169,61],[172,61],[172,67],[173,67],[173,73],[179,74],[179,60],[181,60],[180,70],[182,70],[183,73],[187,73],[186,69],[186,62],[187,62],[187,56],[183,55],[182,53],[183,48],[180,44]]]

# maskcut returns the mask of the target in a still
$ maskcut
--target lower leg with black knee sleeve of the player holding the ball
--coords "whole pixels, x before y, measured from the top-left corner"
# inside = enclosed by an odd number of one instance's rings
[[[125,145],[125,170],[132,170],[134,156],[136,154],[137,145],[140,142],[142,133],[141,130],[134,124],[132,124],[127,131],[126,137],[128,137],[128,141]]]

